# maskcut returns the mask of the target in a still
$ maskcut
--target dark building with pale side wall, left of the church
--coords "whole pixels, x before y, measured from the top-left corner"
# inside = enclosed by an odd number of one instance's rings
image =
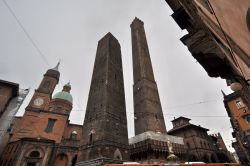
[[[16,83],[0,80],[0,155],[6,146],[15,114],[29,93]]]

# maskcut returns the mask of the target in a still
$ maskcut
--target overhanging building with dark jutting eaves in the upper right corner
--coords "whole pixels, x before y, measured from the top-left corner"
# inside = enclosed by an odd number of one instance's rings
[[[242,86],[250,79],[248,0],[166,0],[172,17],[188,34],[181,38],[210,77]]]

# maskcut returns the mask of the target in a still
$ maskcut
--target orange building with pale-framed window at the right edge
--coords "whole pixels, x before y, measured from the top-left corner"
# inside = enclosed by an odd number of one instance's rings
[[[245,90],[224,94],[224,104],[230,122],[233,127],[233,137],[236,139],[232,143],[240,162],[243,165],[250,164],[250,103]]]

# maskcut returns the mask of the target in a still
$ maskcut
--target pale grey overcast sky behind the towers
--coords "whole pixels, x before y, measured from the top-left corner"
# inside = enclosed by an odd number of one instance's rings
[[[185,116],[192,119],[191,123],[210,129],[210,134],[220,132],[231,146],[232,129],[220,90],[227,94],[231,91],[224,80],[210,78],[181,43],[185,31],[174,22],[164,0],[5,1],[27,33],[0,1],[0,79],[31,88],[18,115],[23,114],[46,70],[61,60],[55,92],[70,80],[74,99],[70,120],[82,124],[97,43],[111,32],[121,45],[128,132],[132,137],[130,23],[138,17],[144,21],[167,129],[172,128],[170,121],[174,117]]]

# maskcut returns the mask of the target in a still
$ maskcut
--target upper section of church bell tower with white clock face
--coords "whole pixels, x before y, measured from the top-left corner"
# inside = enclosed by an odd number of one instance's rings
[[[26,110],[47,110],[49,102],[51,100],[52,93],[59,81],[60,73],[58,71],[59,62],[56,67],[47,70],[44,74],[43,80],[41,81],[38,89],[26,107]]]

